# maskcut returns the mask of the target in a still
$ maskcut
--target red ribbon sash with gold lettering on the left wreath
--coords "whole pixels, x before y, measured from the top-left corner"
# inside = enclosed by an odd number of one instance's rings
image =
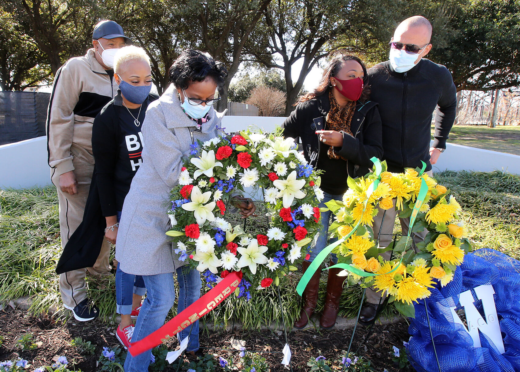
[[[199,318],[215,309],[220,302],[224,301],[235,291],[241,279],[241,271],[229,273],[213,289],[189,305],[180,314],[177,314],[171,321],[144,339],[132,342],[128,351],[132,356],[136,356],[160,345],[163,340],[175,336],[191,323],[196,322]]]

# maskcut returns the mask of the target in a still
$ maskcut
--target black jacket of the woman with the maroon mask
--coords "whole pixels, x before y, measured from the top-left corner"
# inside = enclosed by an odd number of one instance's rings
[[[335,148],[337,154],[348,159],[331,159],[327,155],[330,148],[318,139],[316,130],[327,129],[325,117],[330,110],[328,91],[305,102],[298,103],[296,110],[285,119],[282,125],[283,136],[300,137],[303,153],[310,165],[322,169],[320,188],[332,195],[341,195],[348,189],[348,176],[364,176],[372,166],[370,158],[381,158],[383,144],[381,118],[378,104],[373,101],[357,102],[356,111],[350,123],[353,136],[341,131],[343,146]]]

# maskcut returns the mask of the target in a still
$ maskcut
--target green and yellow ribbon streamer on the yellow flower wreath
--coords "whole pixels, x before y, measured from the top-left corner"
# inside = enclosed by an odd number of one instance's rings
[[[381,179],[381,170],[382,170],[381,162],[376,157],[372,157],[370,160],[372,161],[372,163],[374,163],[375,175],[377,176],[377,179],[374,180],[374,182],[370,185],[369,189],[367,190],[367,199],[363,206],[363,213],[365,212],[365,210],[367,208],[368,199],[369,199],[370,195],[378,187],[380,179]],[[423,166],[422,166],[421,172],[418,174],[418,177],[421,177],[424,172],[424,169],[426,169],[426,163],[422,162],[422,164],[423,164]],[[410,235],[412,233],[413,224],[415,223],[415,219],[417,218],[417,215],[421,209],[421,206],[424,202],[424,199],[426,198],[427,193],[428,193],[428,185],[426,184],[426,181],[423,178],[421,180],[421,188],[419,189],[419,195],[417,196],[417,200],[415,201],[415,204],[413,206],[412,215],[410,216],[410,227],[408,228],[408,235],[407,235],[406,243],[405,243],[405,251],[402,253],[401,259],[400,259],[399,263],[395,265],[395,268],[385,274],[392,273],[400,267],[400,264],[401,264],[403,258],[405,257],[406,246],[408,245],[408,241],[409,241]],[[323,250],[316,256],[316,258],[313,260],[313,262],[310,263],[309,267],[307,268],[305,273],[302,275],[300,282],[298,282],[298,285],[296,286],[296,291],[297,291],[298,295],[302,296],[305,287],[307,286],[307,284],[310,281],[310,278],[314,275],[316,270],[320,267],[321,263],[327,258],[329,253],[331,253],[331,251],[334,248],[336,248],[338,245],[340,245],[341,243],[346,241],[350,236],[352,236],[356,232],[356,230],[359,227],[359,224],[361,222],[361,219],[358,221],[358,223],[356,223],[356,225],[354,226],[354,228],[352,229],[352,231],[350,231],[350,233],[348,235],[342,237],[340,240],[338,240],[332,244],[329,244],[327,247],[323,248]],[[328,269],[332,269],[332,268],[344,269],[344,270],[350,271],[356,275],[365,276],[365,277],[384,275],[384,274],[368,273],[368,272],[358,269],[354,266],[351,266],[347,263],[337,263],[337,264],[335,264],[329,268],[323,269],[323,270],[328,270]]]

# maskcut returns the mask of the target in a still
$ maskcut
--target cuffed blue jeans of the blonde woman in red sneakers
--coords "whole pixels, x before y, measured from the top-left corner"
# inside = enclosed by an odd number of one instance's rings
[[[118,222],[121,212],[118,212]],[[145,282],[141,275],[127,274],[119,268],[115,271],[115,312],[121,315],[132,313],[133,295],[144,296],[146,294]]]

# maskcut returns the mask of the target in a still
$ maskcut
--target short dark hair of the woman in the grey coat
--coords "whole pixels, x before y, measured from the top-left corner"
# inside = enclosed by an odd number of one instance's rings
[[[188,88],[191,82],[202,82],[208,76],[221,88],[227,69],[224,63],[215,62],[209,54],[200,50],[184,50],[170,68],[170,83],[180,89]]]

